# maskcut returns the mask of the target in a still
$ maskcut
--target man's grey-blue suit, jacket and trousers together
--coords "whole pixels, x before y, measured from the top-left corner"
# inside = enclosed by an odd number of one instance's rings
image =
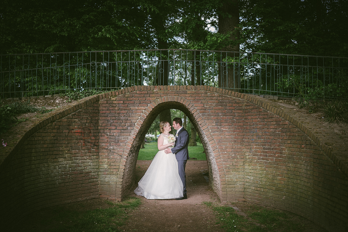
[[[181,178],[181,181],[184,185],[184,196],[186,196],[186,174],[185,174],[185,167],[186,162],[189,159],[189,150],[188,150],[188,144],[189,144],[189,133],[185,128],[181,128],[176,136],[175,145],[174,148],[172,148],[172,153],[175,154],[178,167],[179,167],[179,176]]]

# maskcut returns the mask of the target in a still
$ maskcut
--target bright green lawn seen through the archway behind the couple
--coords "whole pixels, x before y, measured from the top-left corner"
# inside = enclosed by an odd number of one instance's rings
[[[145,148],[140,149],[139,160],[152,160],[158,152],[157,142],[145,143]],[[190,159],[206,160],[204,148],[201,143],[197,143],[196,147],[189,147]]]

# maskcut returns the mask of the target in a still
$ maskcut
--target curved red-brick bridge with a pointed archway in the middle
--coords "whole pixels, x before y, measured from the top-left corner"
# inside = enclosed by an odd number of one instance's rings
[[[135,188],[145,133],[164,109],[183,111],[195,126],[222,202],[348,231],[347,141],[276,102],[211,86],[133,86],[55,111],[2,157],[0,211],[122,200]]]

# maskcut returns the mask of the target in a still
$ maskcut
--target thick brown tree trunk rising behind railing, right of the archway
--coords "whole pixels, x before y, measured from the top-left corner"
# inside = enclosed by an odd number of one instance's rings
[[[238,0],[223,1],[222,7],[218,9],[218,27],[220,34],[230,34],[229,41],[221,48],[222,51],[227,51],[221,55],[219,66],[219,88],[229,88],[232,91],[238,91],[239,86],[239,70],[235,68],[239,65],[239,55],[235,57],[234,53],[229,51],[239,52],[239,6]]]

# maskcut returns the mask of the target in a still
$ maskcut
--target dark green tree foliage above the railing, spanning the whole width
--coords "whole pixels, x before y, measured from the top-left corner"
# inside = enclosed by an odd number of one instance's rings
[[[240,0],[239,39],[222,0],[9,1],[0,5],[0,54],[188,48],[346,57],[347,1]],[[45,36],[42,36],[42,35]]]

